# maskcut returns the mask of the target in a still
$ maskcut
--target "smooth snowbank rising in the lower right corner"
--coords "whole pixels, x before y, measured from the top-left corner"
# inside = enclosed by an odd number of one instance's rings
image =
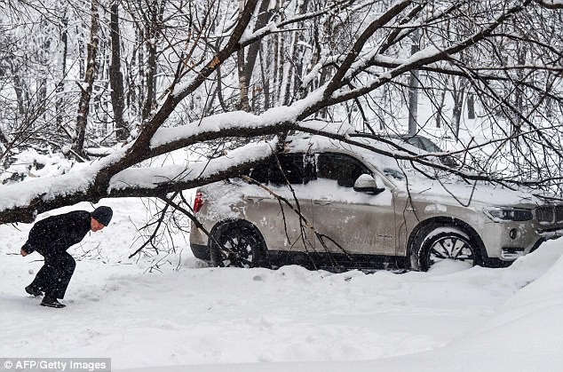
[[[524,257],[506,270],[518,272],[523,267],[534,271],[545,268],[551,258],[560,256],[561,244],[551,245],[534,255]],[[470,270],[471,271],[471,270]],[[467,272],[470,272],[467,271]],[[501,272],[502,270],[496,270]],[[511,275],[511,274],[508,274]],[[465,273],[455,276],[464,277]],[[500,276],[504,276],[501,273]],[[513,279],[519,275],[513,275]],[[479,276],[475,278],[479,280]],[[494,283],[492,283],[494,285]],[[464,290],[462,289],[462,292]],[[438,302],[447,299],[433,297]],[[459,309],[464,312],[463,308]],[[443,314],[436,313],[436,318]],[[408,313],[404,314],[408,318]],[[447,318],[447,317],[444,317]],[[405,321],[406,319],[403,319]],[[448,319],[433,324],[448,326]],[[385,327],[384,327],[385,328]],[[344,341],[344,339],[343,339]],[[387,340],[380,340],[385,343]],[[407,340],[406,340],[407,341]],[[384,347],[384,345],[381,345]],[[404,351],[408,352],[408,342]],[[278,363],[240,363],[184,365],[159,368],[123,369],[130,372],[148,371],[560,371],[563,366],[563,258],[511,297],[484,324],[468,334],[452,339],[443,347],[429,352],[400,355],[378,360],[329,360]]]

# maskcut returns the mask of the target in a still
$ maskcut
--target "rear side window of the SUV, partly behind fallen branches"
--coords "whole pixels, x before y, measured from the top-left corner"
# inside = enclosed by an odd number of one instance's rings
[[[292,185],[302,185],[316,178],[314,169],[313,155],[278,154],[277,160],[273,157],[270,162],[250,170],[250,178],[263,184],[285,185],[289,182]]]

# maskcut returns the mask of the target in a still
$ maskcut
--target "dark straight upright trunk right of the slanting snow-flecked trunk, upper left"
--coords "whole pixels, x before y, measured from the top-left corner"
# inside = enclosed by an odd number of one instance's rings
[[[111,4],[111,64],[109,65],[109,84],[111,87],[111,105],[114,110],[115,137],[124,141],[129,136],[129,128],[123,120],[124,94],[123,74],[121,72],[121,34],[119,33],[119,2]]]

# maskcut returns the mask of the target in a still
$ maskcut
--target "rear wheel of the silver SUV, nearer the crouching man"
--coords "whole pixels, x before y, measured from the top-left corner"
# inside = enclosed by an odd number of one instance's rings
[[[212,236],[211,265],[245,268],[264,265],[266,244],[254,226],[229,222],[219,226]]]

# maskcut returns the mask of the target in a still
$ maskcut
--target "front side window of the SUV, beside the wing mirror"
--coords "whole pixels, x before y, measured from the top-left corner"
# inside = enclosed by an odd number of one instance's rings
[[[362,174],[371,174],[359,160],[346,154],[323,153],[317,157],[317,177],[337,180],[338,186],[353,187]]]

